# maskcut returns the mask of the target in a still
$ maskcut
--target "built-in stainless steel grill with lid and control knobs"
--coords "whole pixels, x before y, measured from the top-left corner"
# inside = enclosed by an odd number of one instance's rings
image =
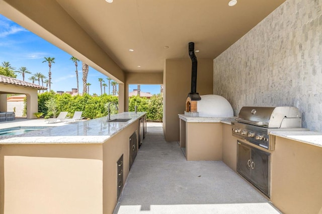
[[[289,106],[241,108],[236,122],[232,122],[232,135],[253,144],[275,149],[271,131],[305,131],[301,128],[301,115],[297,108]]]

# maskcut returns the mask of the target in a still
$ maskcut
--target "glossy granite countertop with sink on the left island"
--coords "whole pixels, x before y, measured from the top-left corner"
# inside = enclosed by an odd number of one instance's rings
[[[0,137],[0,144],[102,144],[145,114],[145,112],[137,114],[124,112],[111,115],[111,120],[131,118],[131,120],[122,123],[108,123],[106,122],[107,117],[103,117],[32,131],[19,136],[4,136]]]

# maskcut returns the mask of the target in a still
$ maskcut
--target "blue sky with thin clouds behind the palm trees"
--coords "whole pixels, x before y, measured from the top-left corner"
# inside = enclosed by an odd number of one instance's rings
[[[51,66],[52,90],[70,91],[71,88],[77,88],[75,65],[70,60],[70,54],[0,15],[0,64],[9,61],[16,70],[23,66],[32,73],[40,72],[48,76],[48,63],[42,63],[44,57],[55,58],[55,63]],[[25,74],[25,81],[29,81],[30,76],[30,74]],[[82,62],[79,62],[79,92],[83,92],[82,77]],[[17,74],[17,78],[22,80],[21,75]],[[90,67],[87,80],[92,84],[90,94],[101,94],[98,78],[103,78],[105,83],[108,84],[107,76]],[[129,85],[129,91],[136,88],[136,85]],[[156,94],[160,92],[160,86],[141,85],[141,91]],[[106,87],[106,92],[108,93],[108,87]]]

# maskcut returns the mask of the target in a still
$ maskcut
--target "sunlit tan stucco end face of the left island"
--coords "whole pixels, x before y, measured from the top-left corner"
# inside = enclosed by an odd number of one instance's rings
[[[0,148],[0,213],[103,213],[102,144]]]

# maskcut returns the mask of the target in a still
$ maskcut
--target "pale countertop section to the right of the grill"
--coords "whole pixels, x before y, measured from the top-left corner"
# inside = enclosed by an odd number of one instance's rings
[[[282,138],[287,138],[294,141],[310,144],[313,146],[322,147],[322,133],[312,131],[275,131],[270,132],[270,135],[275,135]]]

